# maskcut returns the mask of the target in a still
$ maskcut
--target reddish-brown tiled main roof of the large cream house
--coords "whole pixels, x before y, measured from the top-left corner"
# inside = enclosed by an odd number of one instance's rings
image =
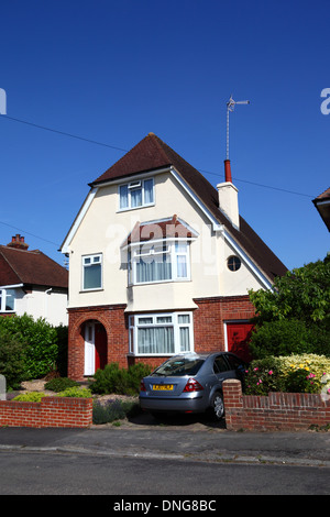
[[[242,217],[240,217],[240,230],[231,224],[229,219],[219,209],[218,190],[195,167],[154,133],[148,133],[147,136],[90,185],[101,186],[107,182],[168,166],[175,167],[216,220],[226,227],[237,243],[272,280],[275,276],[282,276],[286,273],[286,266]]]

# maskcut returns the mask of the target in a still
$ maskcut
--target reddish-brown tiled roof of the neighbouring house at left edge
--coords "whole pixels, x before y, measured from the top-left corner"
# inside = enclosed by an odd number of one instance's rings
[[[0,245],[0,286],[28,284],[68,288],[68,272],[38,250]]]

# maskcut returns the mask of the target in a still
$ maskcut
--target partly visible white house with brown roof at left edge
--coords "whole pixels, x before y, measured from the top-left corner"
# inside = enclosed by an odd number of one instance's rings
[[[0,245],[0,316],[44,318],[68,324],[68,272],[38,250],[29,251],[16,234]]]

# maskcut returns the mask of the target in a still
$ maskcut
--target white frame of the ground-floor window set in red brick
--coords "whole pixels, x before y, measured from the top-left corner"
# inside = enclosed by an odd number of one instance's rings
[[[189,322],[179,322],[180,316],[188,316]],[[170,318],[170,322],[160,322],[161,318]],[[148,319],[151,322],[142,323],[142,319]],[[143,353],[139,351],[139,329],[145,328],[162,328],[172,327],[174,329],[174,351],[173,352],[160,352],[160,353]],[[180,329],[187,328],[189,331],[189,350],[180,350]],[[176,354],[191,353],[194,352],[194,321],[193,312],[153,312],[153,314],[138,314],[129,317],[129,332],[130,332],[130,354],[135,356],[173,356]]]

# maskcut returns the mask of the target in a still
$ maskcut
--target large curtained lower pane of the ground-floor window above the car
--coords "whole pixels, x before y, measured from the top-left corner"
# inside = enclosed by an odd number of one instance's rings
[[[174,353],[173,327],[138,329],[139,353]]]

